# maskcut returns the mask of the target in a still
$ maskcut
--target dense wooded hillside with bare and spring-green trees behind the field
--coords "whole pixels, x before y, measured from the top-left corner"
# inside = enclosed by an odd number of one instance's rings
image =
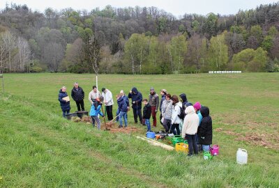
[[[156,7],[0,11],[1,72],[279,72],[279,3],[236,15]]]

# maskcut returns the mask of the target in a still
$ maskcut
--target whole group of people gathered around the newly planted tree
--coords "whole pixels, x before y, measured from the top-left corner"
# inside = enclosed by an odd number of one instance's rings
[[[160,90],[161,100],[154,88],[150,88],[150,94],[148,99],[142,98],[142,93],[133,87],[125,95],[123,90],[116,95],[117,110],[116,110],[116,122],[119,122],[119,128],[128,126],[127,113],[130,111],[131,99],[133,116],[135,123],[140,123],[147,127],[147,131],[151,131],[151,117],[153,119],[153,127],[157,126],[156,113],[160,111],[160,123],[163,125],[166,133],[172,133],[174,135],[181,135],[188,141],[189,153],[188,155],[197,155],[200,145],[202,150],[209,151],[209,146],[212,144],[212,120],[209,116],[209,108],[202,107],[199,102],[192,104],[188,102],[185,93],[179,95],[171,95],[167,93],[165,89]],[[77,82],[75,82],[72,89],[71,96],[77,104],[77,110],[84,111],[84,91]],[[68,97],[66,93],[66,87],[63,86],[59,91],[59,102],[63,111],[63,116],[70,112],[70,101],[65,100]],[[107,113],[107,120],[114,120],[112,113],[112,106],[114,100],[112,92],[107,88],[102,88],[102,93],[98,91],[96,86],[92,87],[92,91],[89,93],[89,102],[91,102],[91,110],[89,115],[92,118],[93,126],[97,123],[98,129],[100,129],[100,118],[105,114],[101,111],[102,105],[105,104],[105,113]],[[142,110],[142,103],[144,108]],[[142,116],[143,114],[143,116]]]

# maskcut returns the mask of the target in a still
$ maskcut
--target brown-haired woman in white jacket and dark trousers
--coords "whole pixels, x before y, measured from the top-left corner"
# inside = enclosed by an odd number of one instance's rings
[[[179,123],[181,123],[181,119],[179,118],[180,108],[182,108],[182,103],[179,102],[179,97],[176,95],[172,96],[172,105],[174,105],[172,109],[172,126],[171,130],[174,135],[180,135]]]

